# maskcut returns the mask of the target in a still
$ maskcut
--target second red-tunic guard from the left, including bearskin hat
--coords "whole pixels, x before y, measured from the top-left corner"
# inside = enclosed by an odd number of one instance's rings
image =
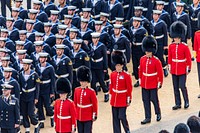
[[[90,88],[91,71],[86,66],[77,70],[77,80],[81,86],[74,92],[74,103],[77,110],[78,133],[92,133],[93,121],[97,119],[98,102],[96,92]]]

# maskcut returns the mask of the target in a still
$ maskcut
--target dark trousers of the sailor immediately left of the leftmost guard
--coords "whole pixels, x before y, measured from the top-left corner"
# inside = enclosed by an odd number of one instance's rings
[[[53,108],[51,107],[51,101],[50,101],[50,95],[40,95],[38,99],[38,118],[39,121],[45,120],[44,110],[43,107],[46,110],[47,116],[53,116]]]

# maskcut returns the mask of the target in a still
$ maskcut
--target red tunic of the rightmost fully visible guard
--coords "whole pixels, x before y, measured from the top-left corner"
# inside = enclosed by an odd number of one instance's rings
[[[185,43],[172,43],[168,50],[168,64],[171,74],[186,74],[187,69],[191,70],[191,53]]]

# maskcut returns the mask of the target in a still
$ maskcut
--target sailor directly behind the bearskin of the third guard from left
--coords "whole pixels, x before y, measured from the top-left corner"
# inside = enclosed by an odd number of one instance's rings
[[[122,27],[123,25],[114,24],[114,34],[111,36],[111,43],[112,43],[111,53],[114,50],[123,52],[126,56],[127,63],[129,63],[131,57],[131,48],[130,48],[131,43],[128,40],[128,38],[121,33]],[[124,69],[127,69],[126,66],[124,66]],[[111,70],[114,70],[113,65]]]

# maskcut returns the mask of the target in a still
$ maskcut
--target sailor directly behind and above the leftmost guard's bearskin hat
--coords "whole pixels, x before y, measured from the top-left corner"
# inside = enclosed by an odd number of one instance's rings
[[[67,78],[73,83],[73,66],[71,59],[64,54],[65,45],[56,45],[56,55],[53,56],[55,61],[56,78]]]

